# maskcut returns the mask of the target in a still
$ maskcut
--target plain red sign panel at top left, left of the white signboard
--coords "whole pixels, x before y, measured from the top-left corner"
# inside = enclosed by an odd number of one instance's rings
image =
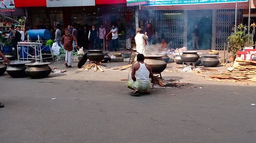
[[[15,0],[15,7],[46,7],[46,0]]]

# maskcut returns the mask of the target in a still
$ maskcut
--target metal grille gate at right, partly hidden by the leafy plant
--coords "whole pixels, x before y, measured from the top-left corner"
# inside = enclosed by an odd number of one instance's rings
[[[235,9],[218,9],[216,11],[216,43],[215,50],[224,50],[224,43],[230,35],[232,22],[235,22]],[[242,10],[237,10],[237,25],[242,22]]]

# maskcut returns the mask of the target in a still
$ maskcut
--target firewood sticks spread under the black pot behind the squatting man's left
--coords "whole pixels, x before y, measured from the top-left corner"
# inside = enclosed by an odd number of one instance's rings
[[[91,62],[87,65],[84,65],[83,67],[81,67],[80,69],[78,69],[77,71],[89,71],[89,70],[94,70],[95,72],[100,70],[101,72],[104,72],[104,69],[109,69],[110,67],[108,67],[107,65],[101,64],[101,62]]]

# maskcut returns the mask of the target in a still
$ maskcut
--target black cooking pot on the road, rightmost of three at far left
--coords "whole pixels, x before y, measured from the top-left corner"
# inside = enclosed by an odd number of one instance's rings
[[[52,72],[48,64],[50,63],[35,62],[25,64],[28,66],[25,70],[26,75],[31,78],[46,78]]]

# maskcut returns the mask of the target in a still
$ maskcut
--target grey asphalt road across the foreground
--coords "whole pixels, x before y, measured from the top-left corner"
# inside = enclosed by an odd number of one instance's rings
[[[63,64],[56,65],[66,69]],[[255,85],[163,72],[163,78],[180,79],[184,87],[155,88],[150,95],[132,97],[132,91],[121,81],[127,78],[127,71],[76,69],[45,79],[1,76],[0,101],[5,107],[0,108],[0,143],[256,140],[256,106],[250,105],[256,103]],[[202,89],[195,88],[199,86]]]

